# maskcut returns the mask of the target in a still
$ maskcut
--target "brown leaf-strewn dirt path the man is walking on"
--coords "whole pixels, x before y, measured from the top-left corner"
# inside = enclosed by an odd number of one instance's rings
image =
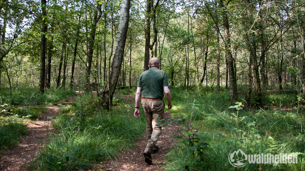
[[[142,114],[143,117],[143,114]],[[164,113],[165,121],[169,121],[171,114]],[[147,144],[146,134],[135,142],[135,148],[126,150],[121,149],[121,153],[116,159],[108,160],[97,164],[92,171],[160,171],[164,170],[166,165],[164,161],[165,155],[170,152],[178,140],[173,139],[173,136],[178,135],[180,126],[177,124],[163,125],[162,134],[157,142],[160,150],[152,154],[152,165],[145,163],[143,151]],[[145,131],[145,130],[143,130]]]

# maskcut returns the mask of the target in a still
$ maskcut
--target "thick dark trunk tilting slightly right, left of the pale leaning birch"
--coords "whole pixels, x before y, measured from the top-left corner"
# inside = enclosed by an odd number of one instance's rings
[[[96,25],[99,22],[99,19],[102,16],[101,4],[97,3],[96,10],[94,12],[93,23],[91,24],[91,31],[88,39],[88,48],[87,48],[87,59],[86,59],[86,75],[85,75],[85,91],[90,90],[90,73],[92,65],[92,56],[94,51],[94,41],[96,33]]]

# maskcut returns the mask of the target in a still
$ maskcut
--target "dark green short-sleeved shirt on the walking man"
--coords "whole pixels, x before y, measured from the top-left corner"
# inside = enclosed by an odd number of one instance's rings
[[[166,72],[156,67],[144,71],[138,82],[138,87],[142,88],[142,97],[145,98],[162,98],[165,86],[169,87]]]

